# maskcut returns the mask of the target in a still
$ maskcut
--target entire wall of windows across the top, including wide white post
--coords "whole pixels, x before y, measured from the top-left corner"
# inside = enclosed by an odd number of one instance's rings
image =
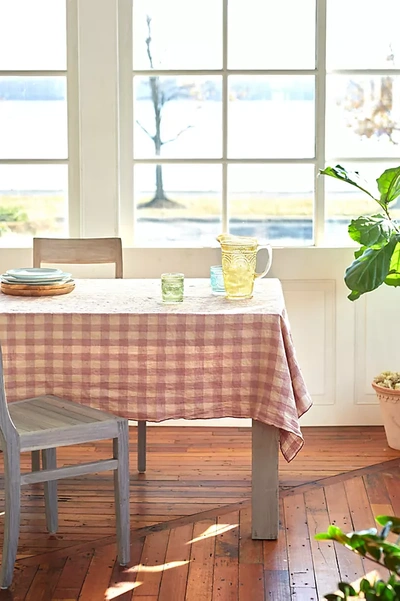
[[[398,0],[0,0],[0,246],[349,244],[376,208],[318,172],[399,163],[399,19]]]

